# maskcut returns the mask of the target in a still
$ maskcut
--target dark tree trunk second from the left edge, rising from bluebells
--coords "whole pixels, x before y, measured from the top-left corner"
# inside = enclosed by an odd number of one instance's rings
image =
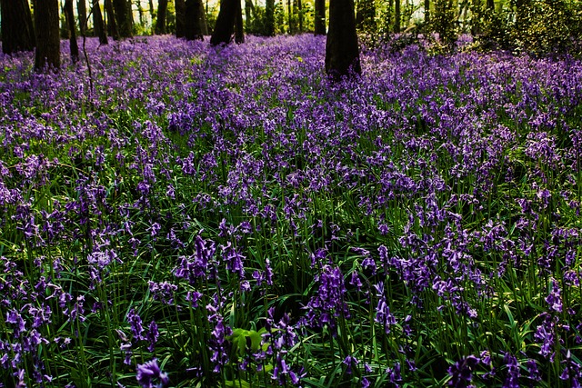
[[[44,71],[46,66],[58,69],[61,65],[58,11],[58,0],[42,0],[35,3],[37,72]]]

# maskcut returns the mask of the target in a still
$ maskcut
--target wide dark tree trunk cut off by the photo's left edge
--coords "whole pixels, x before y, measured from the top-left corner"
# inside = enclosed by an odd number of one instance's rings
[[[0,0],[2,52],[13,54],[35,49],[35,29],[26,0]]]

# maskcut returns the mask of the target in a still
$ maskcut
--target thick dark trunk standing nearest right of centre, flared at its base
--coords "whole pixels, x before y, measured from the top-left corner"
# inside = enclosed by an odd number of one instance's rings
[[[331,0],[326,41],[326,74],[334,80],[361,74],[354,0]]]

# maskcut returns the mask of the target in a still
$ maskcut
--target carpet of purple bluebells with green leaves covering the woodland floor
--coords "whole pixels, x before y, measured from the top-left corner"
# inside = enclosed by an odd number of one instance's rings
[[[0,57],[0,386],[582,383],[582,62]]]

